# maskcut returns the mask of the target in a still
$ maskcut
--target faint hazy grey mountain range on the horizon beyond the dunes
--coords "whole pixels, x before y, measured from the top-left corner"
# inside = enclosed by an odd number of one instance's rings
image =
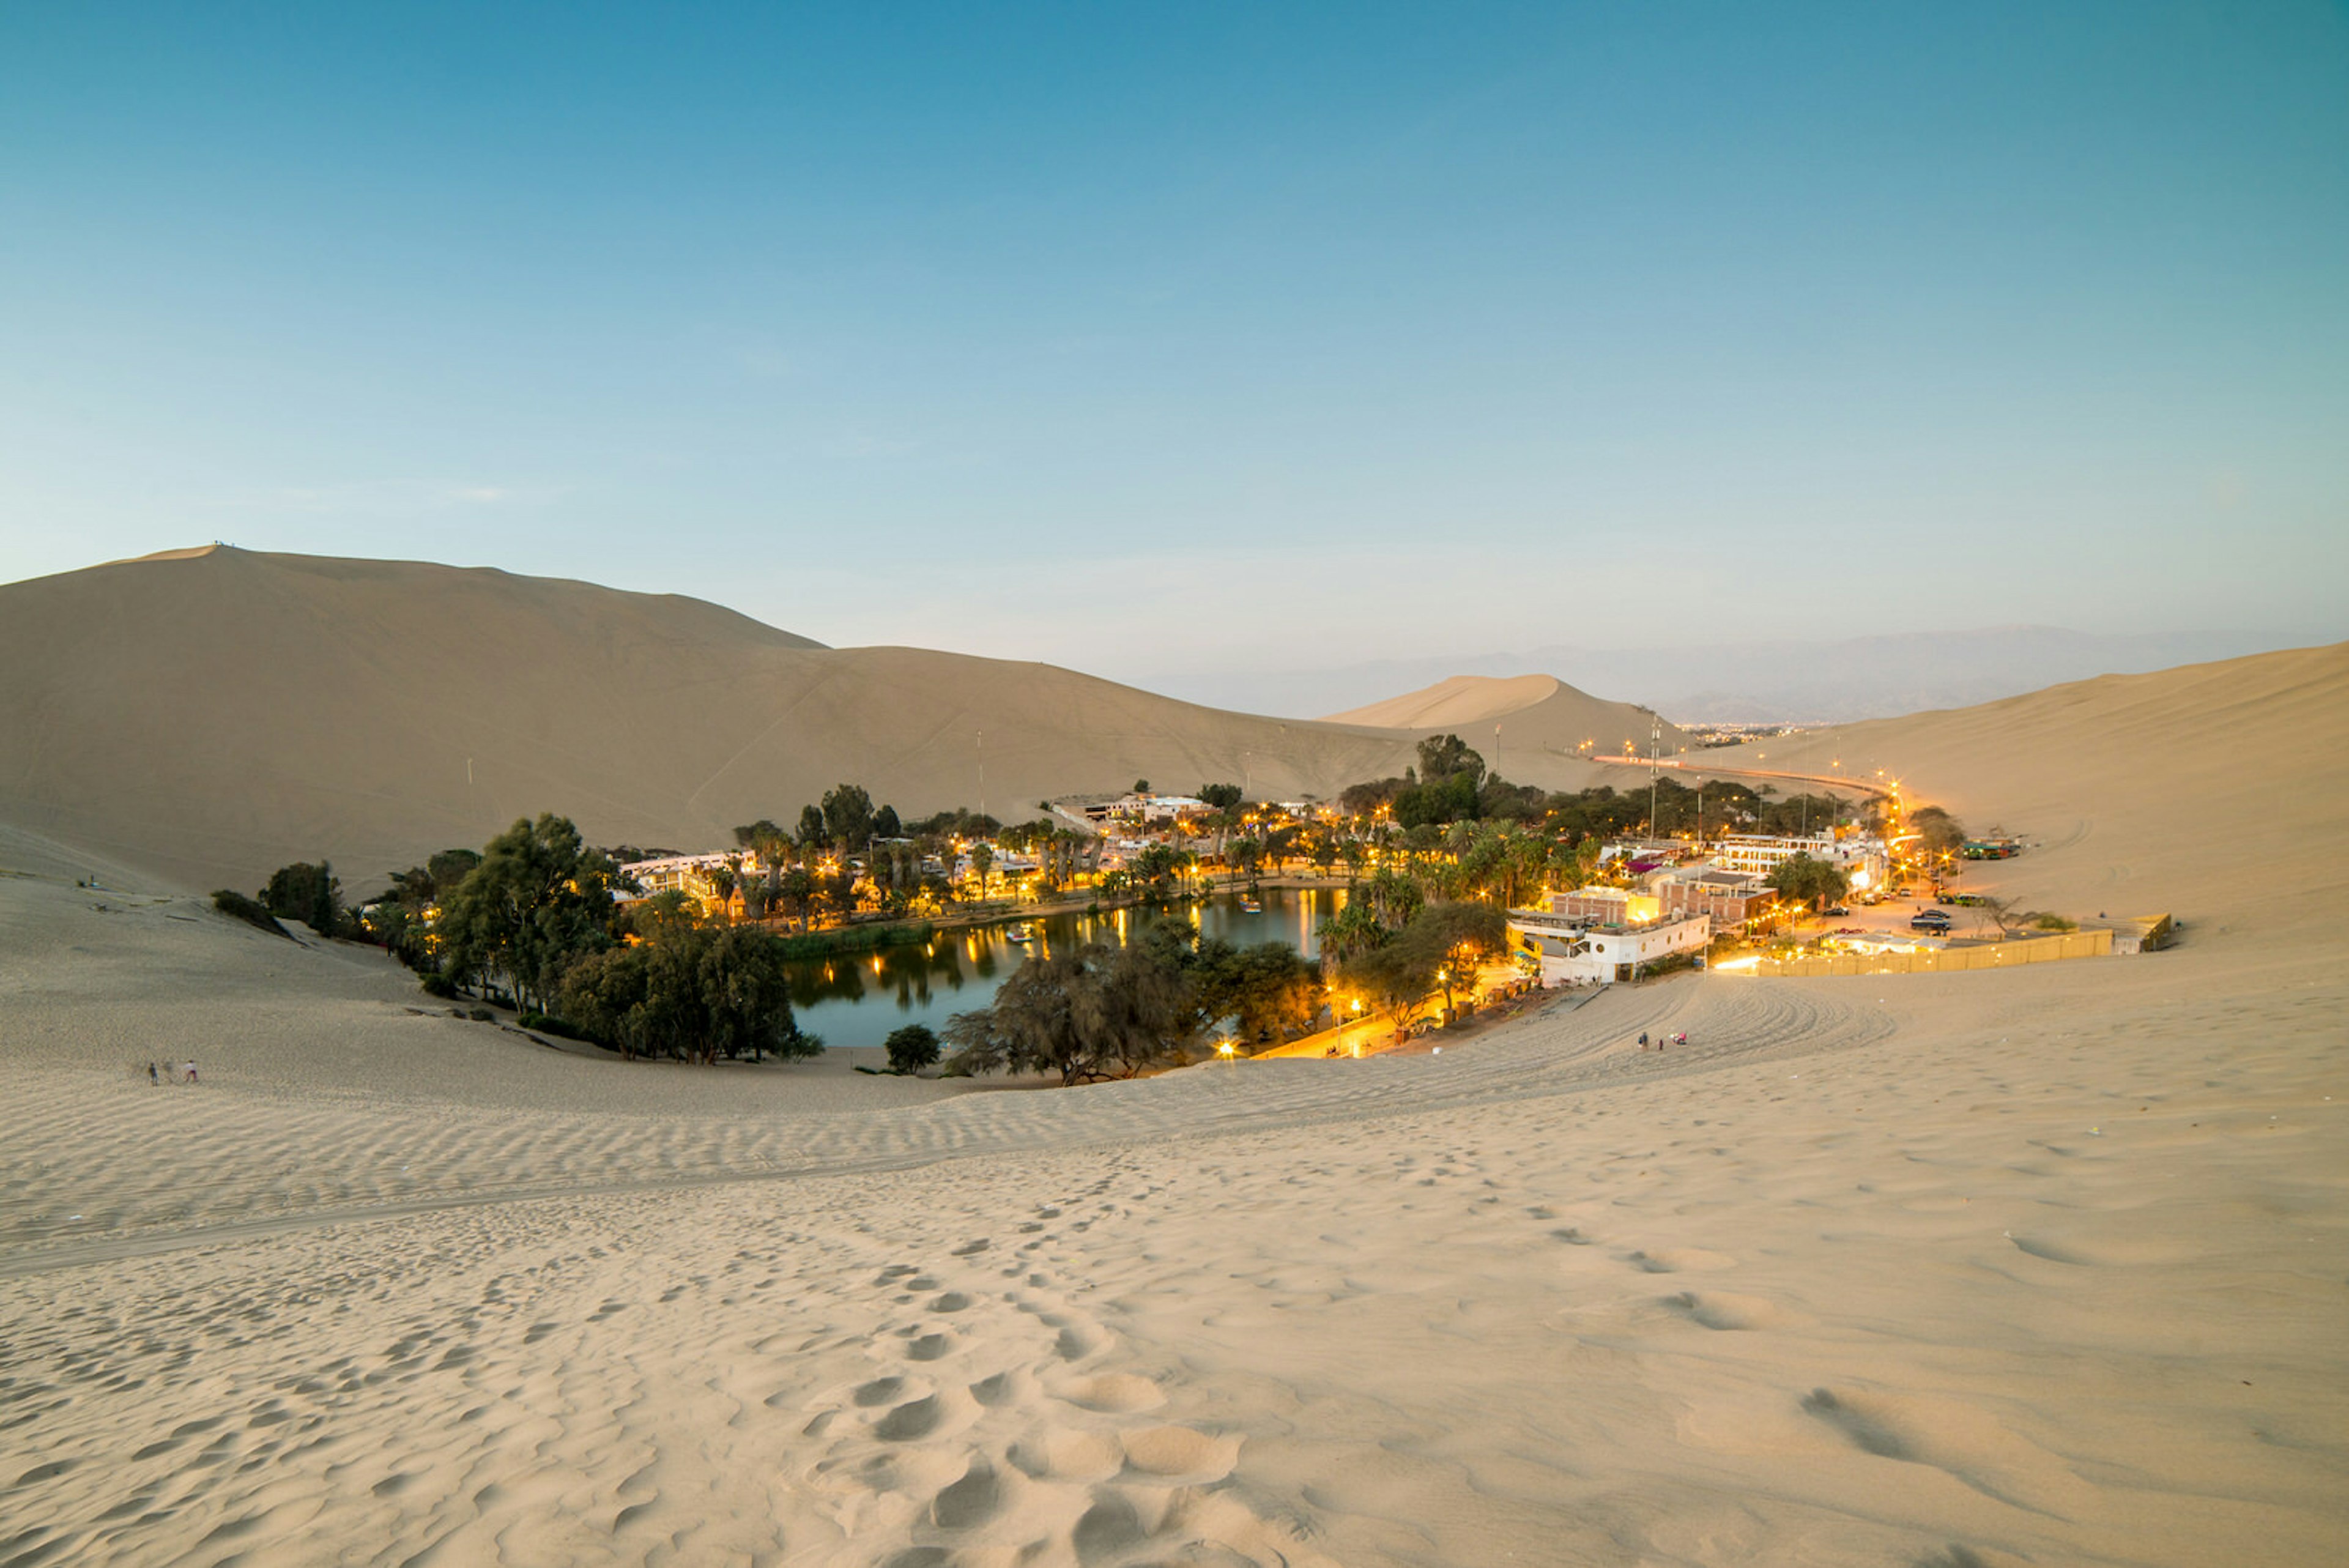
[[[1160,677],[1193,703],[1252,712],[1351,712],[1454,675],[1555,675],[1600,698],[1654,708],[1677,724],[1882,719],[1971,708],[2095,675],[2142,675],[2337,637],[2279,632],[2098,635],[2053,625],[1900,632],[1839,642],[1717,642],[1640,649],[1548,644],[1513,654],[1391,658],[1332,670]]]

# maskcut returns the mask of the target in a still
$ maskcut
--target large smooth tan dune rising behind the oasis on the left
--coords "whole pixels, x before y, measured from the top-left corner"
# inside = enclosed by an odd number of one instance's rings
[[[841,780],[1012,820],[1135,778],[1332,797],[1407,762],[1409,736],[824,649],[698,599],[503,571],[209,548],[0,588],[0,820],[193,889],[319,856],[371,879],[538,811],[700,849]]]

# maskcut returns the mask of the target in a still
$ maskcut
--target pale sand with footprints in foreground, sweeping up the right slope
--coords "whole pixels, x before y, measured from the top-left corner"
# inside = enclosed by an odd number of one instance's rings
[[[1863,736],[2178,950],[1085,1091],[554,1051],[0,835],[0,1561],[2335,1563],[2344,668]]]

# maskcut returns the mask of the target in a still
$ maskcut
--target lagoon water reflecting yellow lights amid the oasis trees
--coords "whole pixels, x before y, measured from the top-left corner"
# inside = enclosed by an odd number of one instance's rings
[[[1287,943],[1320,952],[1315,931],[1346,905],[1346,889],[1266,889],[1261,910],[1238,893],[1217,893],[1177,910],[1125,907],[1104,914],[1029,919],[1029,943],[1005,926],[940,931],[928,945],[890,947],[843,959],[792,964],[792,1009],[827,1046],[879,1046],[890,1030],[926,1023],[942,1030],[954,1013],[987,1006],[1029,952],[1066,952],[1085,943],[1128,943],[1156,919],[1189,922],[1200,936],[1238,947]]]

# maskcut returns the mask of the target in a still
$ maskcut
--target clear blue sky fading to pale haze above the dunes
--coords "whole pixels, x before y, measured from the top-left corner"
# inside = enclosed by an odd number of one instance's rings
[[[2342,5],[14,5],[0,581],[2349,635]]]

